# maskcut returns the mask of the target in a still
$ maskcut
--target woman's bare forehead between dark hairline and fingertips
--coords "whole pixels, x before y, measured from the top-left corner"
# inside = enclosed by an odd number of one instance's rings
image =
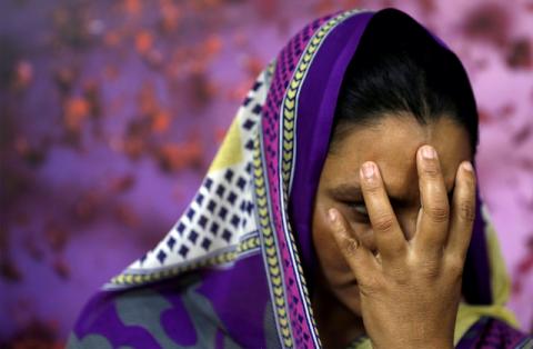
[[[403,197],[418,190],[416,151],[423,144],[436,149],[451,189],[459,164],[471,160],[471,150],[466,131],[446,117],[428,124],[413,117],[383,117],[373,126],[354,126],[328,156],[323,178],[331,186],[358,183],[361,164],[374,161],[390,195]]]

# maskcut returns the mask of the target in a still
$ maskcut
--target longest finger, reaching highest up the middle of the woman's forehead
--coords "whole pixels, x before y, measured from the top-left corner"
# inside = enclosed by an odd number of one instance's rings
[[[450,205],[435,149],[423,146],[416,153],[421,213],[414,247],[425,255],[441,253],[447,239]]]

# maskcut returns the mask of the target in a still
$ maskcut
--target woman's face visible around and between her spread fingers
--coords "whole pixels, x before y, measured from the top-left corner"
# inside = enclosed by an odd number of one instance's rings
[[[361,243],[376,253],[374,235],[360,190],[359,169],[365,161],[378,163],[391,205],[410,239],[420,208],[416,150],[431,144],[439,153],[446,189],[451,196],[459,164],[472,160],[466,130],[442,117],[420,124],[414,117],[383,117],[375,126],[354,126],[335,141],[325,159],[313,211],[313,243],[320,262],[322,288],[352,312],[360,315],[358,282],[333,240],[328,210],[338,209]]]

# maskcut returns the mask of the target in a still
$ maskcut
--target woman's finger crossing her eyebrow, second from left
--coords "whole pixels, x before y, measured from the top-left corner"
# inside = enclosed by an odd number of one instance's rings
[[[360,178],[375,245],[385,265],[404,256],[406,241],[389,201],[378,166],[371,161],[363,163]]]

